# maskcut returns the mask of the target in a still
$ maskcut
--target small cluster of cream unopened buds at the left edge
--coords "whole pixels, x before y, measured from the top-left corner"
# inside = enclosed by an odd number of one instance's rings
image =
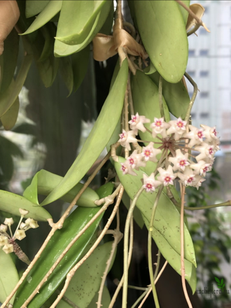
[[[3,246],[2,250],[5,253],[12,253],[14,251],[13,249],[13,241],[15,239],[24,239],[26,237],[26,231],[33,228],[38,228],[37,221],[34,221],[32,218],[27,218],[25,223],[22,223],[22,219],[25,215],[29,213],[26,209],[19,209],[21,214],[21,219],[18,224],[18,227],[15,230],[15,233],[13,235],[11,230],[11,225],[13,225],[14,221],[13,218],[6,218],[4,223],[0,225],[0,247]],[[10,235],[8,235],[7,230],[10,231]]]

